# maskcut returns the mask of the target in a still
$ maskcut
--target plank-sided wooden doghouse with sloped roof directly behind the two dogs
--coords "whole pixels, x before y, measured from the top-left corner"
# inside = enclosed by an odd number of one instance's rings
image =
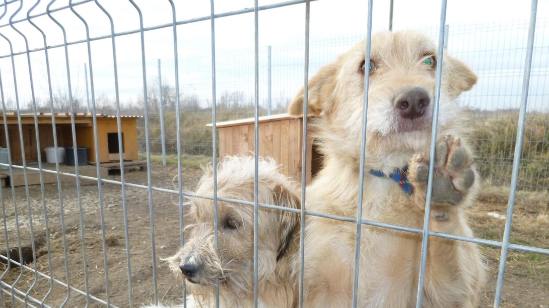
[[[218,122],[219,157],[226,155],[253,155],[254,118],[236,121]],[[212,124],[208,124],[212,127]],[[307,134],[306,184],[318,170],[318,153],[313,146],[312,134]],[[259,118],[259,156],[272,157],[282,164],[284,174],[301,181],[303,118],[290,117],[288,114]]]

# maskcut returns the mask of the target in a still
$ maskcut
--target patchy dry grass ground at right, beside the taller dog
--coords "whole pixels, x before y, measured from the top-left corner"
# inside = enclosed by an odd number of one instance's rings
[[[502,241],[509,189],[484,185],[479,201],[469,208],[469,222],[475,236]],[[545,192],[517,193],[510,242],[549,248],[549,209]],[[480,245],[489,270],[489,281],[480,307],[492,307],[496,290],[501,248]],[[503,285],[502,307],[539,308],[549,305],[549,256],[509,250]]]

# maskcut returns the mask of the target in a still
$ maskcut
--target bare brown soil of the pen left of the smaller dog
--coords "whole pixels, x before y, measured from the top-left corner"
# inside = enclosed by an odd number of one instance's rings
[[[175,166],[163,167],[155,165],[151,167],[152,186],[164,189],[177,190],[177,168]],[[182,186],[184,191],[193,191],[200,179],[201,171],[193,168],[183,170]],[[110,175],[108,179],[120,180],[120,175]],[[126,174],[126,182],[140,185],[147,185],[147,172],[132,171]],[[78,198],[75,183],[63,183],[62,185],[63,206],[67,256],[69,266],[69,281],[71,287],[85,291],[104,301],[107,300],[105,288],[105,266],[103,258],[103,239],[101,216],[99,213],[99,194],[97,182],[84,182],[81,186],[82,212],[84,221],[85,247],[87,258],[87,287],[82,258],[82,236],[80,227],[80,215]],[[53,276],[60,281],[67,281],[65,271],[64,243],[61,229],[61,218],[59,209],[59,194],[57,184],[45,185],[46,203],[48,207],[48,223],[51,235],[50,247],[52,255]],[[108,276],[109,276],[109,298],[110,304],[118,307],[130,307],[130,296],[128,288],[128,271],[126,258],[126,237],[124,232],[124,211],[122,208],[122,190],[120,185],[103,184],[103,206],[105,239],[107,244]],[[25,188],[15,189],[16,206],[19,212],[20,237],[23,247],[31,247],[29,231],[29,214],[25,197]],[[33,216],[33,227],[35,231],[35,242],[37,243],[37,268],[49,275],[48,252],[45,241],[44,213],[40,185],[29,187],[29,195]],[[8,235],[10,247],[18,247],[15,217],[13,213],[12,192],[10,188],[3,189],[5,208],[8,221]],[[156,253],[156,278],[159,300],[166,301],[181,298],[182,284],[171,275],[170,270],[164,261],[165,258],[176,252],[180,247],[180,219],[178,208],[178,196],[171,193],[153,191],[153,216],[154,216],[154,241]],[[126,202],[128,215],[128,241],[130,244],[130,265],[131,282],[133,292],[133,306],[147,304],[154,301],[153,287],[153,256],[152,240],[150,234],[150,211],[149,192],[147,189],[126,186]],[[175,202],[175,203],[174,203]],[[5,254],[5,237],[2,226],[0,238],[0,250]],[[16,252],[17,249],[12,249]],[[29,267],[33,267],[32,258]],[[0,273],[4,272],[5,264],[0,264]],[[19,267],[8,271],[2,281],[13,284],[19,277]],[[1,275],[1,274],[0,274]],[[15,284],[15,287],[26,293],[35,281],[33,272],[23,271],[23,275]],[[30,296],[42,300],[50,289],[49,280],[38,277],[36,285],[31,289]],[[54,283],[51,294],[47,297],[45,304],[51,307],[59,307],[67,298],[67,288]],[[4,294],[4,301],[7,307],[11,307],[9,295]],[[23,298],[23,296],[19,296]],[[36,305],[35,305],[36,306]],[[86,296],[74,290],[65,307],[85,307]],[[91,299],[89,307],[105,307]],[[15,307],[24,307],[23,303],[15,301]]]

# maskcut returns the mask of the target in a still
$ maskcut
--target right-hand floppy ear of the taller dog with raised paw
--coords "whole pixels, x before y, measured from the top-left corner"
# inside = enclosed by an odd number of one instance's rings
[[[448,90],[453,97],[457,98],[477,83],[477,75],[462,61],[444,55],[444,66],[448,72]]]

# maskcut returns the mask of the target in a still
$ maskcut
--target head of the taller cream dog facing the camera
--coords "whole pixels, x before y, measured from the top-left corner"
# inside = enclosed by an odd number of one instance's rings
[[[439,59],[436,45],[414,31],[382,32],[372,36],[368,63],[365,50],[366,41],[362,41],[310,79],[309,116],[322,114],[317,128],[328,151],[358,159],[367,73],[367,155],[386,160],[406,153],[409,159],[414,152],[428,149],[430,142]],[[444,54],[442,61],[439,124],[448,127],[455,125],[458,112],[452,101],[472,88],[477,76],[449,55]],[[290,102],[290,115],[302,115],[303,99],[301,90]]]

